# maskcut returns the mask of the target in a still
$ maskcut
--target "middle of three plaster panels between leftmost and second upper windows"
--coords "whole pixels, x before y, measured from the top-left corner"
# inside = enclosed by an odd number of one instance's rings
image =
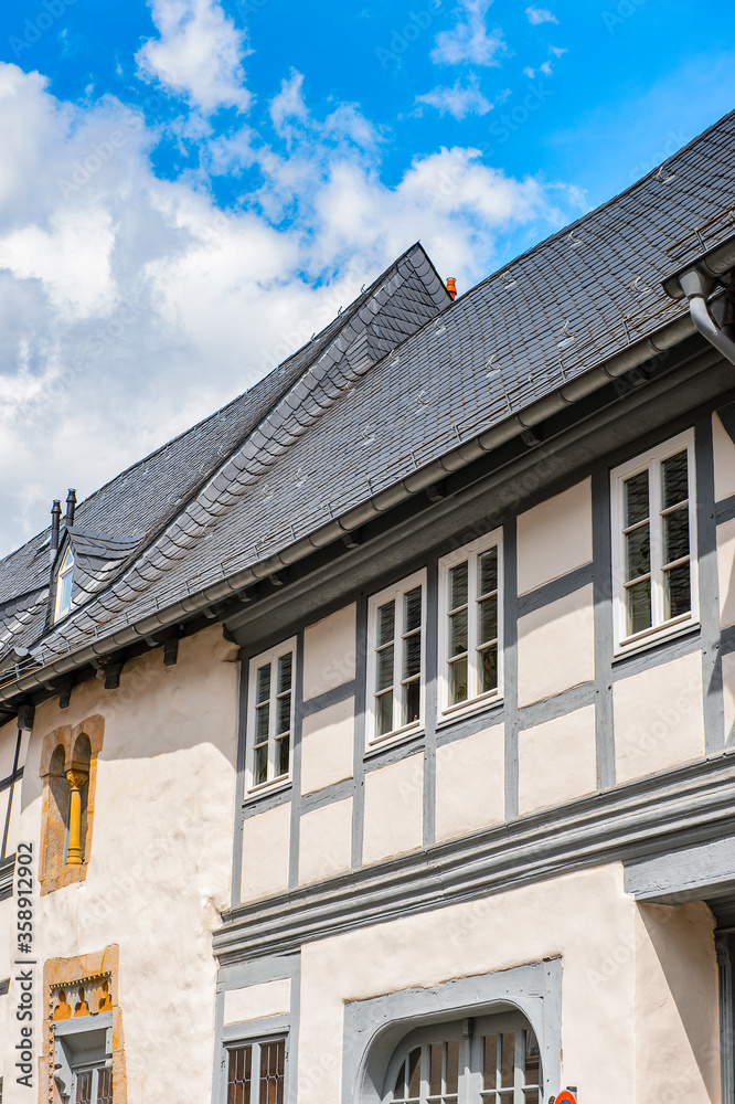
[[[301,793],[311,794],[352,777],[354,698],[303,718]]]

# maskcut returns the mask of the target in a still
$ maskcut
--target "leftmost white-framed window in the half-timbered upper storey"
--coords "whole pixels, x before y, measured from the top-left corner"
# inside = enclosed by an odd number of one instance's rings
[[[248,792],[291,774],[296,637],[251,660],[247,710]]]

